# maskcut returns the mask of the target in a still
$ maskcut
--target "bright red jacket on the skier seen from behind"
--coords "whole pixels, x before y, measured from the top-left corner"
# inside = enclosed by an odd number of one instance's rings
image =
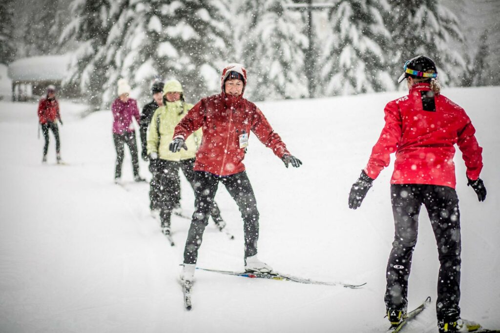
[[[364,171],[376,178],[396,153],[391,184],[430,184],[454,188],[456,143],[475,180],[482,169],[482,148],[465,111],[443,95],[433,95],[428,83],[417,83],[409,94],[385,106],[385,126],[373,146]]]

